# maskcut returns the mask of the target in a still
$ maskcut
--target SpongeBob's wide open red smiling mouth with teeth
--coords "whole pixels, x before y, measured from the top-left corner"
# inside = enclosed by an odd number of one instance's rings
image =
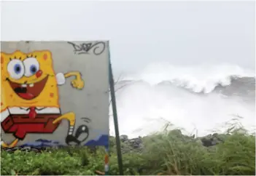
[[[25,100],[32,100],[37,97],[47,82],[48,76],[46,76],[41,81],[37,81],[30,84],[19,84],[13,81],[9,81],[9,85],[12,87],[13,91],[21,98]]]

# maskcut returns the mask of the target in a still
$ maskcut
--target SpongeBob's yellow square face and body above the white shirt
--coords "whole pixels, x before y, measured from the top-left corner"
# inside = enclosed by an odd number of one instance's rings
[[[1,111],[32,106],[60,107],[51,52],[1,52]]]

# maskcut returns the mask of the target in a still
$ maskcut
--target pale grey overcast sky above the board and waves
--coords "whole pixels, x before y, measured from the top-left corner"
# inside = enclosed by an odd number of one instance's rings
[[[109,39],[115,71],[158,62],[255,69],[255,1],[7,1],[1,39]]]

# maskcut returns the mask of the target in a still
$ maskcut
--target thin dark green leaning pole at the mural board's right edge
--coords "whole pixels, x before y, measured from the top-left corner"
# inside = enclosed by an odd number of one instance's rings
[[[115,82],[113,79],[110,57],[109,57],[109,84],[110,84],[109,86],[110,86],[112,110],[113,110],[114,124],[115,124],[115,140],[117,143],[117,160],[118,160],[119,174],[123,175],[123,161],[122,161],[122,153],[121,153],[121,145],[120,145],[120,137],[119,137],[119,129],[118,129],[118,121],[117,121],[117,105],[115,102]]]

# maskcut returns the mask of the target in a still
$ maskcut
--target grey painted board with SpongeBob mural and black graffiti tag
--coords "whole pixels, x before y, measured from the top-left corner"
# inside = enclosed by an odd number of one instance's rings
[[[2,41],[1,147],[107,145],[108,62],[106,41]]]

